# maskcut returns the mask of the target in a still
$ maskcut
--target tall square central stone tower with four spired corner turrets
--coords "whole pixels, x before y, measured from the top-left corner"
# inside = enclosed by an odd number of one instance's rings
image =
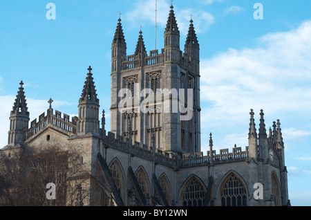
[[[111,132],[165,152],[200,152],[199,50],[192,19],[180,50],[171,6],[161,53],[147,53],[140,30],[135,53],[126,55],[119,18],[111,45]]]

